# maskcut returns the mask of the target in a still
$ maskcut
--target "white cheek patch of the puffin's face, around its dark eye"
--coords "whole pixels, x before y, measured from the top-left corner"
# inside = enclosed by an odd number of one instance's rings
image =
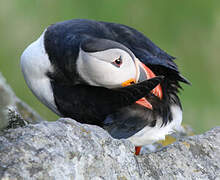
[[[122,58],[120,67],[112,64],[118,57]],[[76,64],[80,76],[94,86],[121,87],[123,82],[136,79],[137,75],[135,62],[128,53],[120,49],[96,53],[87,53],[81,49]]]

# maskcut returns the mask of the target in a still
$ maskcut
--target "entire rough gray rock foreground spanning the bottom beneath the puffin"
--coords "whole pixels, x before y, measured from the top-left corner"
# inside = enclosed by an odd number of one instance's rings
[[[72,119],[28,124],[0,136],[2,179],[219,179],[220,127],[161,151],[134,155],[127,140]]]

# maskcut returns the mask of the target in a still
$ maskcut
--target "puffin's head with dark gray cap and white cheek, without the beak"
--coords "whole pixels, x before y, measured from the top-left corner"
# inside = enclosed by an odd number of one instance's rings
[[[76,63],[79,75],[93,86],[121,87],[139,78],[134,54],[122,44],[107,39],[83,41]]]

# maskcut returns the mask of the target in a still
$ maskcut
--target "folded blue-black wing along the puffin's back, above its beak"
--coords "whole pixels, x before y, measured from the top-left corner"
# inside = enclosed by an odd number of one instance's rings
[[[175,58],[156,46],[142,33],[121,24],[104,24],[112,31],[113,40],[129,48],[134,55],[145,65],[150,67],[156,75],[165,75],[172,80],[190,84],[190,82],[180,74],[174,62]]]

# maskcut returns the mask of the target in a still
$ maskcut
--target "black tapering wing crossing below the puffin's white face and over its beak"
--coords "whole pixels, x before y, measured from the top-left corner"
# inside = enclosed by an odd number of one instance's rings
[[[154,89],[163,77],[155,77],[131,86],[107,89],[104,87],[65,86],[51,81],[55,102],[64,117],[79,122],[102,125],[107,115],[134,104]]]

